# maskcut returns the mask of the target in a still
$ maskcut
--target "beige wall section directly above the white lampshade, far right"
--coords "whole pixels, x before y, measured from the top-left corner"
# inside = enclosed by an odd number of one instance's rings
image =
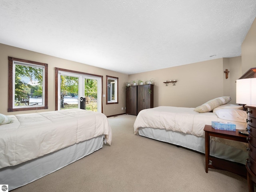
[[[256,18],[242,43],[242,74],[256,67]]]

